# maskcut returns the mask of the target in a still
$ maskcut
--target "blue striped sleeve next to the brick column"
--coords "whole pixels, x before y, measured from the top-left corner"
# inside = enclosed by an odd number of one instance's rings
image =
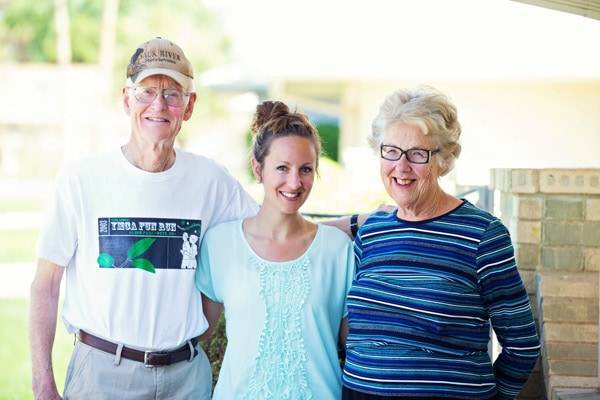
[[[489,224],[479,243],[477,275],[492,327],[502,346],[494,363],[497,398],[513,399],[535,365],[540,342],[510,235],[497,219]]]

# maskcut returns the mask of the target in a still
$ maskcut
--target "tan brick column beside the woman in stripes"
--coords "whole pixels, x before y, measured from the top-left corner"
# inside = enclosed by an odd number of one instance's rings
[[[541,377],[548,398],[598,388],[600,170],[495,169],[491,182],[543,344],[520,398]]]

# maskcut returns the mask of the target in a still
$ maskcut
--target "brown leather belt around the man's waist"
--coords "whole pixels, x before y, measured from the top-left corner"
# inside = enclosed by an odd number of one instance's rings
[[[87,344],[88,346],[92,346],[98,350],[102,350],[104,352],[110,354],[116,354],[119,346],[116,343],[109,342],[108,340],[101,339],[97,336],[94,336],[90,333],[80,330],[79,331],[79,340],[82,343]],[[146,367],[158,367],[158,366],[166,366],[178,363],[180,361],[189,360],[191,361],[194,357],[198,355],[198,350],[196,350],[196,344],[198,344],[198,338],[193,338],[190,340],[192,346],[188,343],[181,346],[178,349],[172,351],[140,351],[134,350],[129,347],[123,347],[121,350],[121,357],[127,358],[129,360],[138,361],[144,364]],[[194,353],[192,354],[192,348]]]

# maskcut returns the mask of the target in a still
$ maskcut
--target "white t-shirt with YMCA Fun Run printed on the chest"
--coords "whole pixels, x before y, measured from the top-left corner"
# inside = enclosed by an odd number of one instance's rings
[[[208,326],[194,286],[202,237],[256,211],[224,168],[181,150],[159,173],[120,151],[68,168],[38,246],[40,258],[67,267],[67,330],[144,350],[200,335]]]

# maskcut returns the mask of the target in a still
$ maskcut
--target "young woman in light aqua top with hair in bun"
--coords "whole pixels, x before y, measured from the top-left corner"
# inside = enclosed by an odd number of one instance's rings
[[[224,306],[227,350],[214,399],[339,399],[337,348],[354,257],[337,228],[300,215],[321,149],[308,118],[281,102],[257,107],[252,169],[264,187],[260,211],[209,230],[196,285]]]

